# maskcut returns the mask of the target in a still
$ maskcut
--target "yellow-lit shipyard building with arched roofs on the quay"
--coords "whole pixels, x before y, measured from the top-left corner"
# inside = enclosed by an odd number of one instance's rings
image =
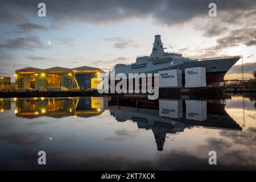
[[[48,69],[24,68],[15,71],[16,88],[36,88],[46,90],[49,87],[90,88],[90,79],[104,73],[100,68],[79,67]],[[78,86],[77,86],[78,84]]]

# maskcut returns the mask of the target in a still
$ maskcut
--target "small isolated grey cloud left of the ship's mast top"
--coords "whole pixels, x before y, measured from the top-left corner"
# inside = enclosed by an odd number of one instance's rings
[[[135,43],[132,39],[124,39],[120,37],[112,37],[112,38],[105,38],[103,40],[114,42],[113,47],[117,49],[125,49],[126,47],[133,47],[137,48],[139,47],[138,44]]]

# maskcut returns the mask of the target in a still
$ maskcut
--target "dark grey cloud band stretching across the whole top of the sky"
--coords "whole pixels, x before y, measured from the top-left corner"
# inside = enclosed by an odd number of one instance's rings
[[[28,13],[37,16],[37,5],[41,1],[2,1],[1,10],[4,11],[7,22],[14,22],[14,16],[19,19],[26,19]],[[200,1],[49,1],[46,0],[47,17],[60,22],[115,22],[128,18],[143,18],[152,16],[156,22],[171,26],[174,23],[183,23],[197,16],[208,16],[208,5],[212,0]],[[255,10],[255,2],[250,0],[222,0],[214,1],[218,11],[228,11],[230,14],[236,11]],[[16,15],[16,10],[22,11],[23,16]],[[246,14],[249,16],[250,14]]]

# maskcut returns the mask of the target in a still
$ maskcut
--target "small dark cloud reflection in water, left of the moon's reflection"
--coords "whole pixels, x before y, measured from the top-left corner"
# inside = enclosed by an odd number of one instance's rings
[[[34,133],[31,131],[25,133],[11,133],[1,136],[0,139],[6,139],[11,144],[18,144],[21,146],[39,146],[46,133]]]

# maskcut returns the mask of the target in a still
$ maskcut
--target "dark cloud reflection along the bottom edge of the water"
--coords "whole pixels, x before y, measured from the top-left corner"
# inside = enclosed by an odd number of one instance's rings
[[[126,155],[94,155],[81,156],[64,154],[64,152],[47,152],[47,165],[39,166],[36,164],[38,156],[34,154],[20,154],[19,158],[6,159],[0,169],[65,169],[65,170],[206,170],[206,169],[256,169],[255,164],[247,164],[243,166],[240,163],[241,155],[238,152],[229,153],[232,158],[220,158],[217,153],[217,165],[209,165],[208,151],[205,153],[205,158],[198,158],[192,155],[191,152],[183,150],[171,150],[161,152],[163,155],[158,155],[156,160],[132,158]],[[232,160],[230,160],[232,159]],[[222,161],[226,160],[230,163],[225,164]],[[14,165],[15,164],[15,165]],[[16,164],[19,164],[16,166]],[[30,166],[28,165],[30,164]]]

